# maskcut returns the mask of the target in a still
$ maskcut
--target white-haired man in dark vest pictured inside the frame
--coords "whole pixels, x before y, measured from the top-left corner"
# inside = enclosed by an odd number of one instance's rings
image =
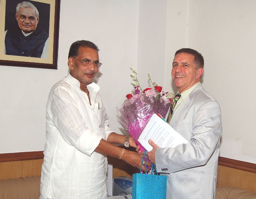
[[[19,2],[14,17],[17,24],[5,30],[4,54],[48,58],[49,30],[39,27],[37,7],[29,1]]]

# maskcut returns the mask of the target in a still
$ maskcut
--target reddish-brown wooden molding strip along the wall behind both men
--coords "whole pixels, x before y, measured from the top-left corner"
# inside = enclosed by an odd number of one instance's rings
[[[30,151],[20,153],[0,153],[1,162],[12,162],[22,160],[36,160],[44,158],[44,151]],[[225,167],[231,167],[234,169],[244,170],[248,172],[256,173],[256,164],[248,163],[240,160],[233,160],[230,158],[219,157],[219,165]]]

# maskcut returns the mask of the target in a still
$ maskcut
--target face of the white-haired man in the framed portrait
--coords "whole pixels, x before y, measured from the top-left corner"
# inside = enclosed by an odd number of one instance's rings
[[[24,33],[30,33],[37,29],[39,17],[36,17],[36,12],[31,7],[20,7],[19,14],[16,13],[16,19]]]

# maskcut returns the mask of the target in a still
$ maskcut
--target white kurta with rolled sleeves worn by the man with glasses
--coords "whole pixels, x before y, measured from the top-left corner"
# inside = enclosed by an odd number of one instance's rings
[[[107,159],[94,150],[113,131],[99,86],[91,83],[87,87],[91,106],[79,81],[70,74],[49,93],[41,199],[107,198]]]

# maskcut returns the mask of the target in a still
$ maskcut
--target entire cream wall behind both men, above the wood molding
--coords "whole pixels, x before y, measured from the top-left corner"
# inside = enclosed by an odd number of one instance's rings
[[[47,95],[68,73],[70,44],[87,39],[100,49],[96,82],[113,130],[121,133],[116,107],[132,90],[130,67],[143,87],[150,73],[176,92],[173,55],[190,47],[203,54],[203,86],[222,107],[221,156],[256,163],[254,10],[255,0],[62,0],[58,70],[0,66],[0,153],[44,150]]]

